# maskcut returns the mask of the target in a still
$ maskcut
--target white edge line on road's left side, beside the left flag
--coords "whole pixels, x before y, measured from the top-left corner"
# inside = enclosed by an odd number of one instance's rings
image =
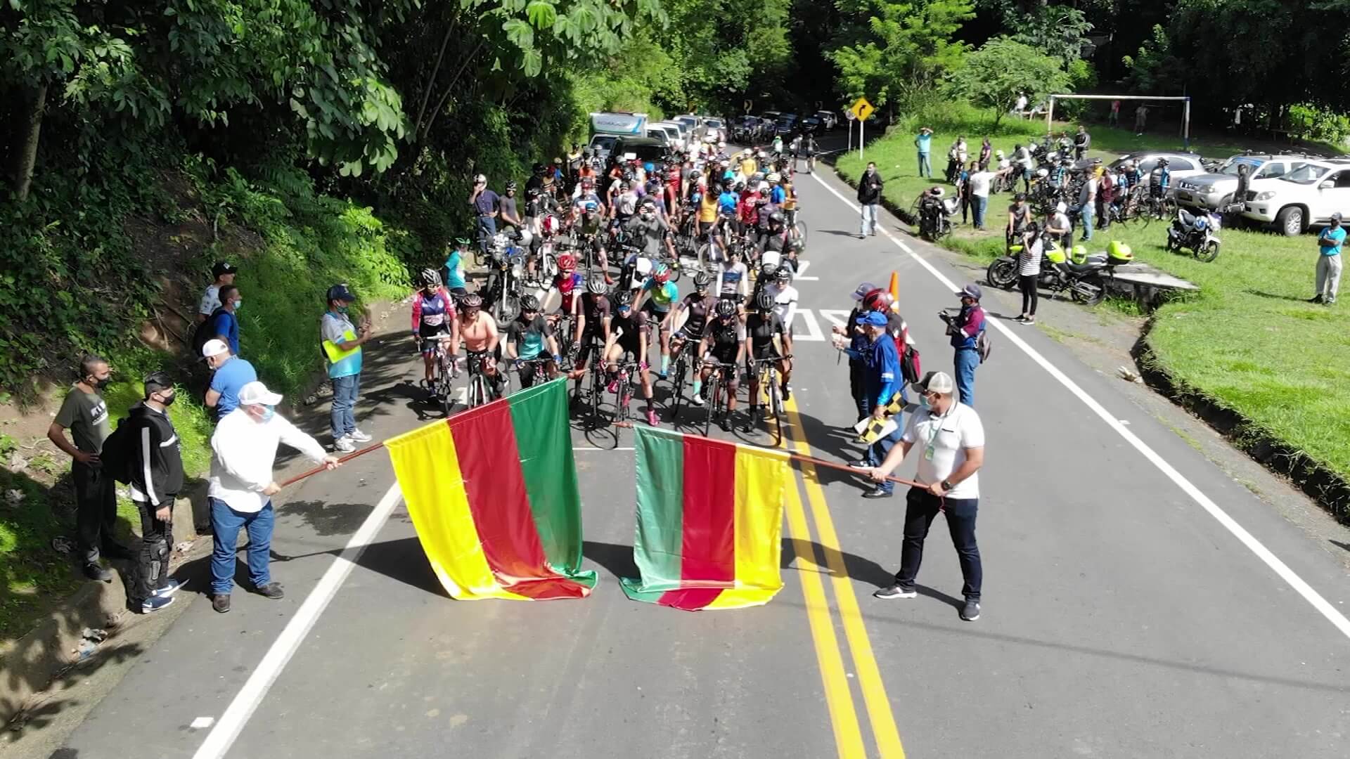
[[[230,751],[230,747],[239,737],[239,732],[243,731],[244,724],[252,717],[254,710],[258,709],[262,700],[266,698],[271,683],[277,682],[281,670],[286,669],[290,658],[296,655],[296,651],[315,627],[319,616],[324,613],[328,602],[333,600],[338,589],[342,587],[347,575],[351,574],[352,567],[356,566],[356,559],[360,558],[366,546],[370,544],[375,533],[379,532],[379,528],[383,527],[385,520],[389,519],[389,513],[394,511],[394,505],[400,500],[402,500],[402,492],[396,482],[385,493],[385,497],[375,504],[370,516],[362,523],[360,529],[351,536],[342,554],[333,559],[328,571],[319,579],[319,585],[305,597],[305,602],[300,605],[296,616],[286,623],[285,629],[273,642],[271,648],[263,655],[262,662],[248,675],[248,681],[244,682],[235,700],[230,702],[225,713],[220,716],[220,721],[207,735],[205,743],[193,754],[193,759],[220,759]]]

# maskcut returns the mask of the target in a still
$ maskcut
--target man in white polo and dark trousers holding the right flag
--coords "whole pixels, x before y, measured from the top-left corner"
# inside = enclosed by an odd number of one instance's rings
[[[910,448],[919,448],[915,479],[925,488],[910,488],[905,509],[905,550],[895,585],[873,593],[878,598],[914,598],[914,578],[923,559],[923,539],[933,519],[946,513],[952,543],[961,560],[965,605],[961,619],[980,619],[980,548],[975,544],[975,515],[980,502],[979,469],[984,463],[984,425],[975,409],[953,396],[956,382],[942,371],[930,371],[914,384],[922,409],[910,417],[900,444],[891,448],[882,466],[868,474],[878,482],[895,471]]]

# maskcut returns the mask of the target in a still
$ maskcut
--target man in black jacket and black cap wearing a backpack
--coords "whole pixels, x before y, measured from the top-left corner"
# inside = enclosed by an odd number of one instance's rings
[[[182,489],[182,455],[178,434],[167,408],[176,390],[167,374],[157,371],[144,381],[144,400],[131,407],[123,424],[131,425],[127,456],[131,502],[140,513],[140,554],[128,601],[140,613],[173,604],[178,581],[169,579],[173,544],[173,504]]]

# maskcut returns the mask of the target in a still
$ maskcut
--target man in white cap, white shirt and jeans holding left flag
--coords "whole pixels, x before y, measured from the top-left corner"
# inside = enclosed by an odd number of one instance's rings
[[[207,492],[212,532],[211,608],[220,613],[230,610],[240,528],[248,531],[248,579],[254,592],[273,600],[285,597],[267,566],[274,521],[271,496],[281,490],[271,478],[277,444],[286,443],[328,469],[339,465],[317,440],[275,413],[279,402],[281,396],[266,385],[250,382],[239,392],[239,408],[221,419],[211,436],[213,455]]]

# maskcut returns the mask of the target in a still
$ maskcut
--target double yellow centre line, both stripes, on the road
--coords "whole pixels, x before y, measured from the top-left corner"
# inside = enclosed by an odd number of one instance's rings
[[[791,435],[783,436],[782,446],[799,454],[810,455],[811,447],[806,443],[802,428],[802,417],[796,411],[796,401],[790,400],[783,404],[787,411],[787,421]],[[791,440],[788,440],[791,438]],[[811,505],[811,517],[815,521],[815,532],[819,536],[821,550],[825,552],[825,569],[829,570],[830,585],[834,589],[834,600],[838,606],[840,621],[844,627],[844,637],[848,640],[849,655],[853,659],[853,669],[857,673],[859,687],[863,691],[863,702],[867,708],[867,718],[872,725],[872,737],[876,741],[879,756],[884,759],[903,759],[905,747],[900,745],[899,729],[895,727],[895,716],[891,713],[891,701],[886,696],[886,685],[882,682],[882,673],[872,655],[872,642],[867,636],[863,625],[863,614],[857,606],[857,596],[849,581],[848,570],[844,566],[844,554],[840,551],[838,535],[834,532],[834,520],[830,519],[829,505],[825,502],[825,492],[817,478],[815,467],[803,463],[802,482],[806,486],[806,501]],[[825,586],[821,582],[821,556],[817,555],[811,543],[811,533],[806,521],[806,509],[795,483],[788,489],[787,496],[787,527],[792,535],[792,547],[796,554],[799,567],[805,571],[802,577],[802,594],[806,598],[806,616],[811,627],[811,640],[815,644],[815,659],[821,666],[821,679],[825,685],[825,704],[830,712],[830,724],[834,728],[834,744],[841,759],[865,758],[867,747],[863,743],[863,728],[853,705],[853,689],[849,686],[848,675],[844,671],[844,655],[840,648],[838,636],[834,631],[834,620],[830,614],[830,605],[825,597]]]

